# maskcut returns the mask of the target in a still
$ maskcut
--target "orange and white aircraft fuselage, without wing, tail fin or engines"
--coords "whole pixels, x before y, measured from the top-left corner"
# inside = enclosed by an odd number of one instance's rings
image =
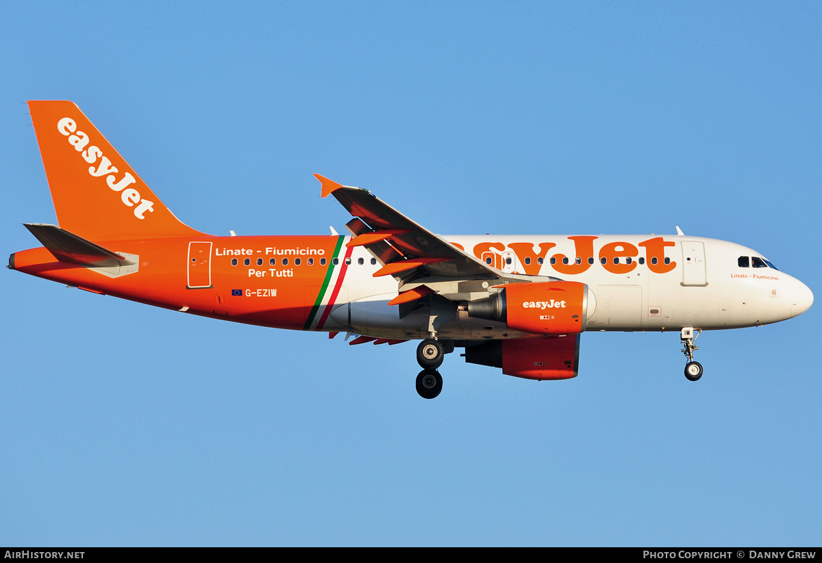
[[[776,323],[810,306],[810,291],[762,254],[695,236],[443,236],[501,272],[589,286],[587,331],[703,330]],[[266,327],[412,339],[428,314],[388,305],[390,276],[350,236],[230,236],[118,240],[103,246],[139,257],[132,272],[78,268],[45,249],[15,255],[15,268],[56,282],[189,314]],[[740,259],[743,258],[741,261]],[[740,263],[747,263],[741,267]],[[30,264],[30,266],[28,265]],[[121,267],[122,268],[122,267]],[[593,295],[592,295],[593,294]],[[473,299],[482,298],[473,292]],[[490,327],[490,328],[489,328]],[[457,314],[441,337],[522,336]],[[506,336],[502,336],[506,334]]]

